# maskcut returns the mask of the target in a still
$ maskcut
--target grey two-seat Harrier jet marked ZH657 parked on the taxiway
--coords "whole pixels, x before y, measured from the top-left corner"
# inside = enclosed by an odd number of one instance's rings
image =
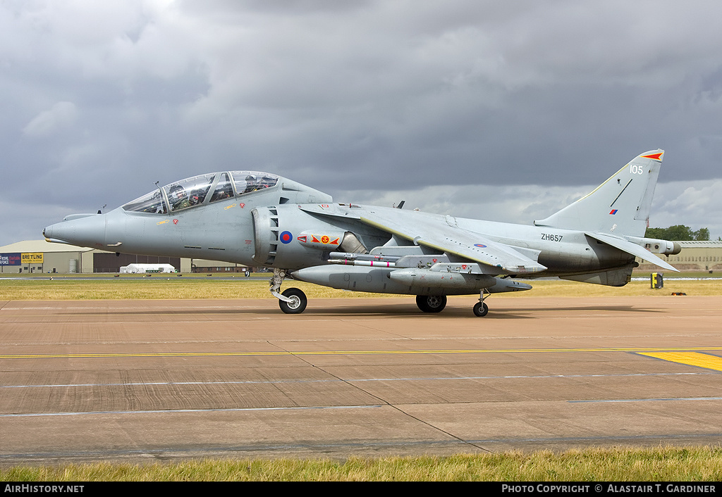
[[[677,271],[658,255],[679,244],[644,238],[663,150],[635,157],[593,192],[532,225],[477,221],[393,207],[337,203],[266,172],[225,171],[157,188],[106,214],[48,226],[48,242],[130,254],[224,260],[273,268],[271,294],[298,314],[286,278],[336,289],[416,295],[424,312],[446,296],[531,289],[547,276],[623,286],[635,257]]]

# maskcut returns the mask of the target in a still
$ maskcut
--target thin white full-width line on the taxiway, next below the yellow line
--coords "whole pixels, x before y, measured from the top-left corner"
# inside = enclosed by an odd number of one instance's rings
[[[77,387],[178,387],[183,385],[231,385],[231,384],[298,384],[298,383],[360,383],[360,382],[440,382],[479,379],[563,379],[563,378],[625,378],[625,377],[679,377],[719,374],[700,373],[629,373],[629,374],[546,374],[534,376],[486,376],[486,377],[408,377],[408,378],[344,378],[344,379],[279,379],[269,381],[229,382],[129,382],[129,383],[58,383],[0,385],[0,388],[77,388]]]

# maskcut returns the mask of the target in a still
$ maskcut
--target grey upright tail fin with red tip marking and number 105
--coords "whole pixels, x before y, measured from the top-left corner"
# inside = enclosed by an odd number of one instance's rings
[[[609,180],[534,226],[643,237],[664,150],[635,157]]]

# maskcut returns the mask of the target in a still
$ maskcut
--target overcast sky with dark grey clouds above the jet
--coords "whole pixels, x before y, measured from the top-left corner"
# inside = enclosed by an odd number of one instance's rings
[[[183,177],[529,224],[666,151],[722,236],[718,1],[0,0],[0,246]]]

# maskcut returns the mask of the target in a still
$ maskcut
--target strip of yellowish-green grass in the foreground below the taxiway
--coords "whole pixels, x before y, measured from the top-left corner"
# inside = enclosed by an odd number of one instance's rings
[[[11,467],[3,481],[718,481],[721,447]]]

